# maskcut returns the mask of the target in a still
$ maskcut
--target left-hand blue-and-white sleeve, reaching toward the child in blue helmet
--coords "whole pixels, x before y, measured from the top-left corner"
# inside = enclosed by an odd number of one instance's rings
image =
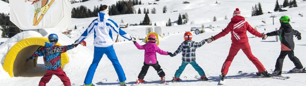
[[[80,38],[78,39],[78,42],[83,41],[85,38],[87,38],[92,32],[94,32],[94,27],[98,25],[98,23],[96,23],[97,19],[95,19],[94,21],[91,22],[91,24],[88,26],[88,28],[84,31],[84,33],[80,36]]]

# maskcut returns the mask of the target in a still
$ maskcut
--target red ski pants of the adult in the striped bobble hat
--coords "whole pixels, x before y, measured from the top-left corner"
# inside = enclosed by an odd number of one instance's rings
[[[230,47],[230,53],[227,56],[222,69],[221,69],[221,73],[223,74],[227,74],[230,64],[232,63],[234,57],[237,55],[238,51],[242,49],[243,53],[248,57],[248,59],[250,61],[252,61],[252,63],[256,66],[256,68],[258,69],[258,72],[263,72],[266,69],[263,67],[263,64],[261,64],[261,62],[252,54],[251,48],[250,48],[250,44],[248,42],[246,43],[232,43],[231,47]]]

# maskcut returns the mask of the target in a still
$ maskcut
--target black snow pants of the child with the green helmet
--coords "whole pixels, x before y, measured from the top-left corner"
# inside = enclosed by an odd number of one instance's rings
[[[275,70],[282,71],[284,58],[287,56],[287,54],[288,54],[289,59],[295,65],[295,68],[297,68],[297,69],[303,68],[302,63],[300,62],[300,60],[297,57],[294,56],[294,51],[291,50],[291,51],[281,51],[281,54],[279,55],[279,57],[276,60]]]

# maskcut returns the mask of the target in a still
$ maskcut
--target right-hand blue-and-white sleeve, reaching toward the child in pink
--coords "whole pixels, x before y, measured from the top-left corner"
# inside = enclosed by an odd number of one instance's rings
[[[132,37],[125,33],[125,31],[123,31],[121,28],[119,28],[119,26],[117,25],[116,22],[114,22],[111,19],[107,19],[108,21],[110,21],[110,23],[106,23],[107,26],[110,26],[110,28],[112,28],[111,30],[113,30],[114,32],[116,32],[118,35],[120,35],[121,37],[131,40]]]

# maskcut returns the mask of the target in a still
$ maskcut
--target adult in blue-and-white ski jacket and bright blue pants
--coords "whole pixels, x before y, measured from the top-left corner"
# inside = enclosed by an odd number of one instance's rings
[[[103,54],[106,54],[108,59],[110,59],[110,61],[113,63],[116,73],[119,77],[120,84],[125,86],[126,77],[113,48],[114,41],[112,37],[112,31],[130,41],[132,40],[132,37],[121,30],[117,23],[110,19],[110,16],[108,15],[108,6],[103,5],[99,8],[99,10],[100,12],[98,13],[98,18],[91,22],[85,32],[76,41],[76,43],[79,43],[88,37],[91,33],[94,33],[94,59],[87,71],[84,86],[93,85],[92,78]],[[134,37],[133,40],[135,40]]]

